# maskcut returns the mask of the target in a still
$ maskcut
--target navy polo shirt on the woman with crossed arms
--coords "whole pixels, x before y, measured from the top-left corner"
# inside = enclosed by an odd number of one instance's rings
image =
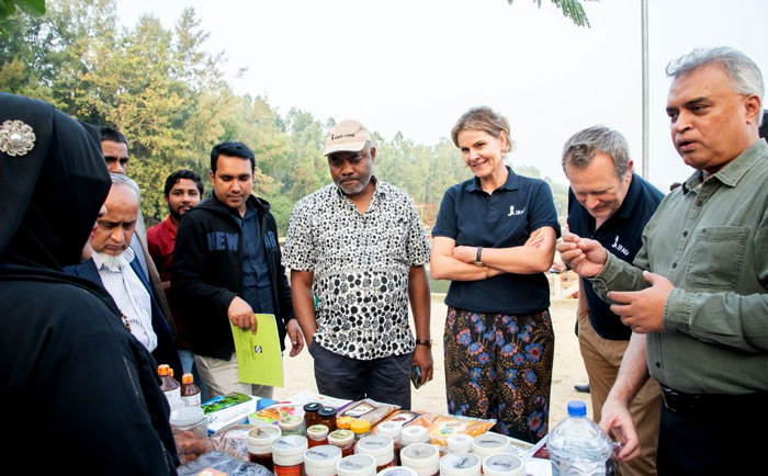
[[[557,213],[550,185],[516,174],[488,194],[472,178],[448,189],[440,204],[433,237],[455,240],[456,246],[511,248],[523,245],[531,233],[551,226],[560,236]],[[529,314],[550,307],[550,285],[544,273],[504,273],[489,280],[453,281],[445,304],[477,313]]]

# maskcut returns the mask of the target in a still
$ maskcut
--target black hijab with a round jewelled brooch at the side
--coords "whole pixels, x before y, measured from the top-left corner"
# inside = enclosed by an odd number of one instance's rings
[[[0,151],[0,276],[69,281],[60,271],[79,262],[111,186],[99,129],[48,103],[0,92],[0,129],[15,121],[35,138],[30,150]]]

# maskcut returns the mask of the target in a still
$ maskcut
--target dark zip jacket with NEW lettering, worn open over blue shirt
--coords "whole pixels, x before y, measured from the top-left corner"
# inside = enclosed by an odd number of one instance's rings
[[[280,348],[284,350],[285,325],[294,314],[285,268],[280,263],[278,225],[268,202],[255,195],[248,202],[258,214]],[[197,355],[229,360],[235,352],[227,309],[242,291],[242,233],[238,219],[236,209],[212,194],[184,214],[177,230],[171,286],[184,307],[192,352]]]

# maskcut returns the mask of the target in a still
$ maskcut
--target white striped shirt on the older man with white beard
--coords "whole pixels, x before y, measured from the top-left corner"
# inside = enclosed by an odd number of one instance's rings
[[[131,333],[151,352],[157,348],[157,335],[153,330],[151,321],[151,299],[142,280],[131,268],[134,258],[134,250],[126,248],[114,267],[105,262],[109,258],[103,253],[93,252],[93,263],[101,282],[128,319]]]

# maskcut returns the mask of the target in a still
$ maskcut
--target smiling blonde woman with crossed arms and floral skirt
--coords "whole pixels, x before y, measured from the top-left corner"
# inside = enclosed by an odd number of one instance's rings
[[[475,177],[445,192],[432,230],[432,276],[451,280],[448,409],[535,442],[549,431],[554,356],[544,276],[560,235],[552,192],[505,163],[509,122],[490,109],[466,112],[451,137]]]

